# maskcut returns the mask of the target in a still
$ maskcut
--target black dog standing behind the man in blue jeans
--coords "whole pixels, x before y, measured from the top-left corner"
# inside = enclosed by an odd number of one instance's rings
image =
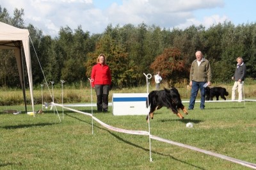
[[[205,88],[205,100],[212,100],[213,97],[216,97],[219,100],[219,97],[226,100],[225,96],[228,96],[228,92],[225,88],[214,87],[214,88]]]

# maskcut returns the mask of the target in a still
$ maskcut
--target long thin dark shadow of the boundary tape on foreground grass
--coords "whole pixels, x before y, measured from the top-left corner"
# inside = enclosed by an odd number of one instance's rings
[[[143,148],[143,147],[139,146],[138,144],[134,144],[134,143],[131,143],[131,142],[129,142],[129,141],[126,141],[126,140],[123,139],[122,137],[120,137],[120,136],[118,136],[118,135],[116,135],[116,134],[113,134],[113,133],[110,132],[109,130],[108,130],[108,132],[109,132],[109,134],[111,134],[111,135],[113,135],[114,137],[116,137],[116,139],[118,139],[118,140],[120,140],[120,141],[122,141],[122,142],[124,142],[124,143],[130,144],[131,146],[134,146],[134,147],[136,147],[136,148],[140,148],[141,150],[149,151],[148,149]],[[156,153],[157,155],[162,155],[162,156],[164,156],[164,157],[170,157],[170,158],[172,158],[173,160],[177,160],[177,161],[179,161],[179,162],[182,162],[183,164],[188,164],[189,166],[193,166],[193,167],[196,167],[196,168],[198,168],[198,169],[204,169],[204,168],[202,168],[202,167],[198,167],[198,166],[195,166],[195,165],[193,165],[193,164],[189,164],[188,162],[184,162],[184,161],[182,161],[182,160],[179,160],[179,159],[177,159],[177,158],[175,158],[175,157],[173,157],[173,156],[171,156],[171,155],[165,155],[165,154],[159,153],[159,152],[157,152],[157,151],[152,151],[152,153]]]

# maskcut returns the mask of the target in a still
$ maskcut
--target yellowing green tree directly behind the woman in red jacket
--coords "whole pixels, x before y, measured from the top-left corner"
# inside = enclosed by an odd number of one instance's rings
[[[85,63],[86,77],[90,77],[92,66],[96,64],[97,57],[100,53],[106,55],[106,62],[111,69],[112,86],[113,88],[130,87],[131,84],[136,82],[138,78],[137,67],[134,63],[129,63],[127,52],[124,51],[124,47],[110,35],[106,34],[100,38],[100,41],[96,45],[95,52],[91,52],[87,56]]]

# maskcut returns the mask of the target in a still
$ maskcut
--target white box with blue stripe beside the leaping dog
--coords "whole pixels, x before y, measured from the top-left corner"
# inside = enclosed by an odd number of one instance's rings
[[[113,115],[147,115],[147,93],[113,93]]]

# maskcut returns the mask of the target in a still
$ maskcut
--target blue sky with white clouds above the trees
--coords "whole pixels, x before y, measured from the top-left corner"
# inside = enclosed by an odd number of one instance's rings
[[[41,29],[44,35],[58,36],[61,27],[103,33],[109,24],[145,23],[148,26],[185,29],[202,24],[230,21],[255,23],[255,0],[0,0],[12,16],[13,10],[24,9],[26,25]]]

